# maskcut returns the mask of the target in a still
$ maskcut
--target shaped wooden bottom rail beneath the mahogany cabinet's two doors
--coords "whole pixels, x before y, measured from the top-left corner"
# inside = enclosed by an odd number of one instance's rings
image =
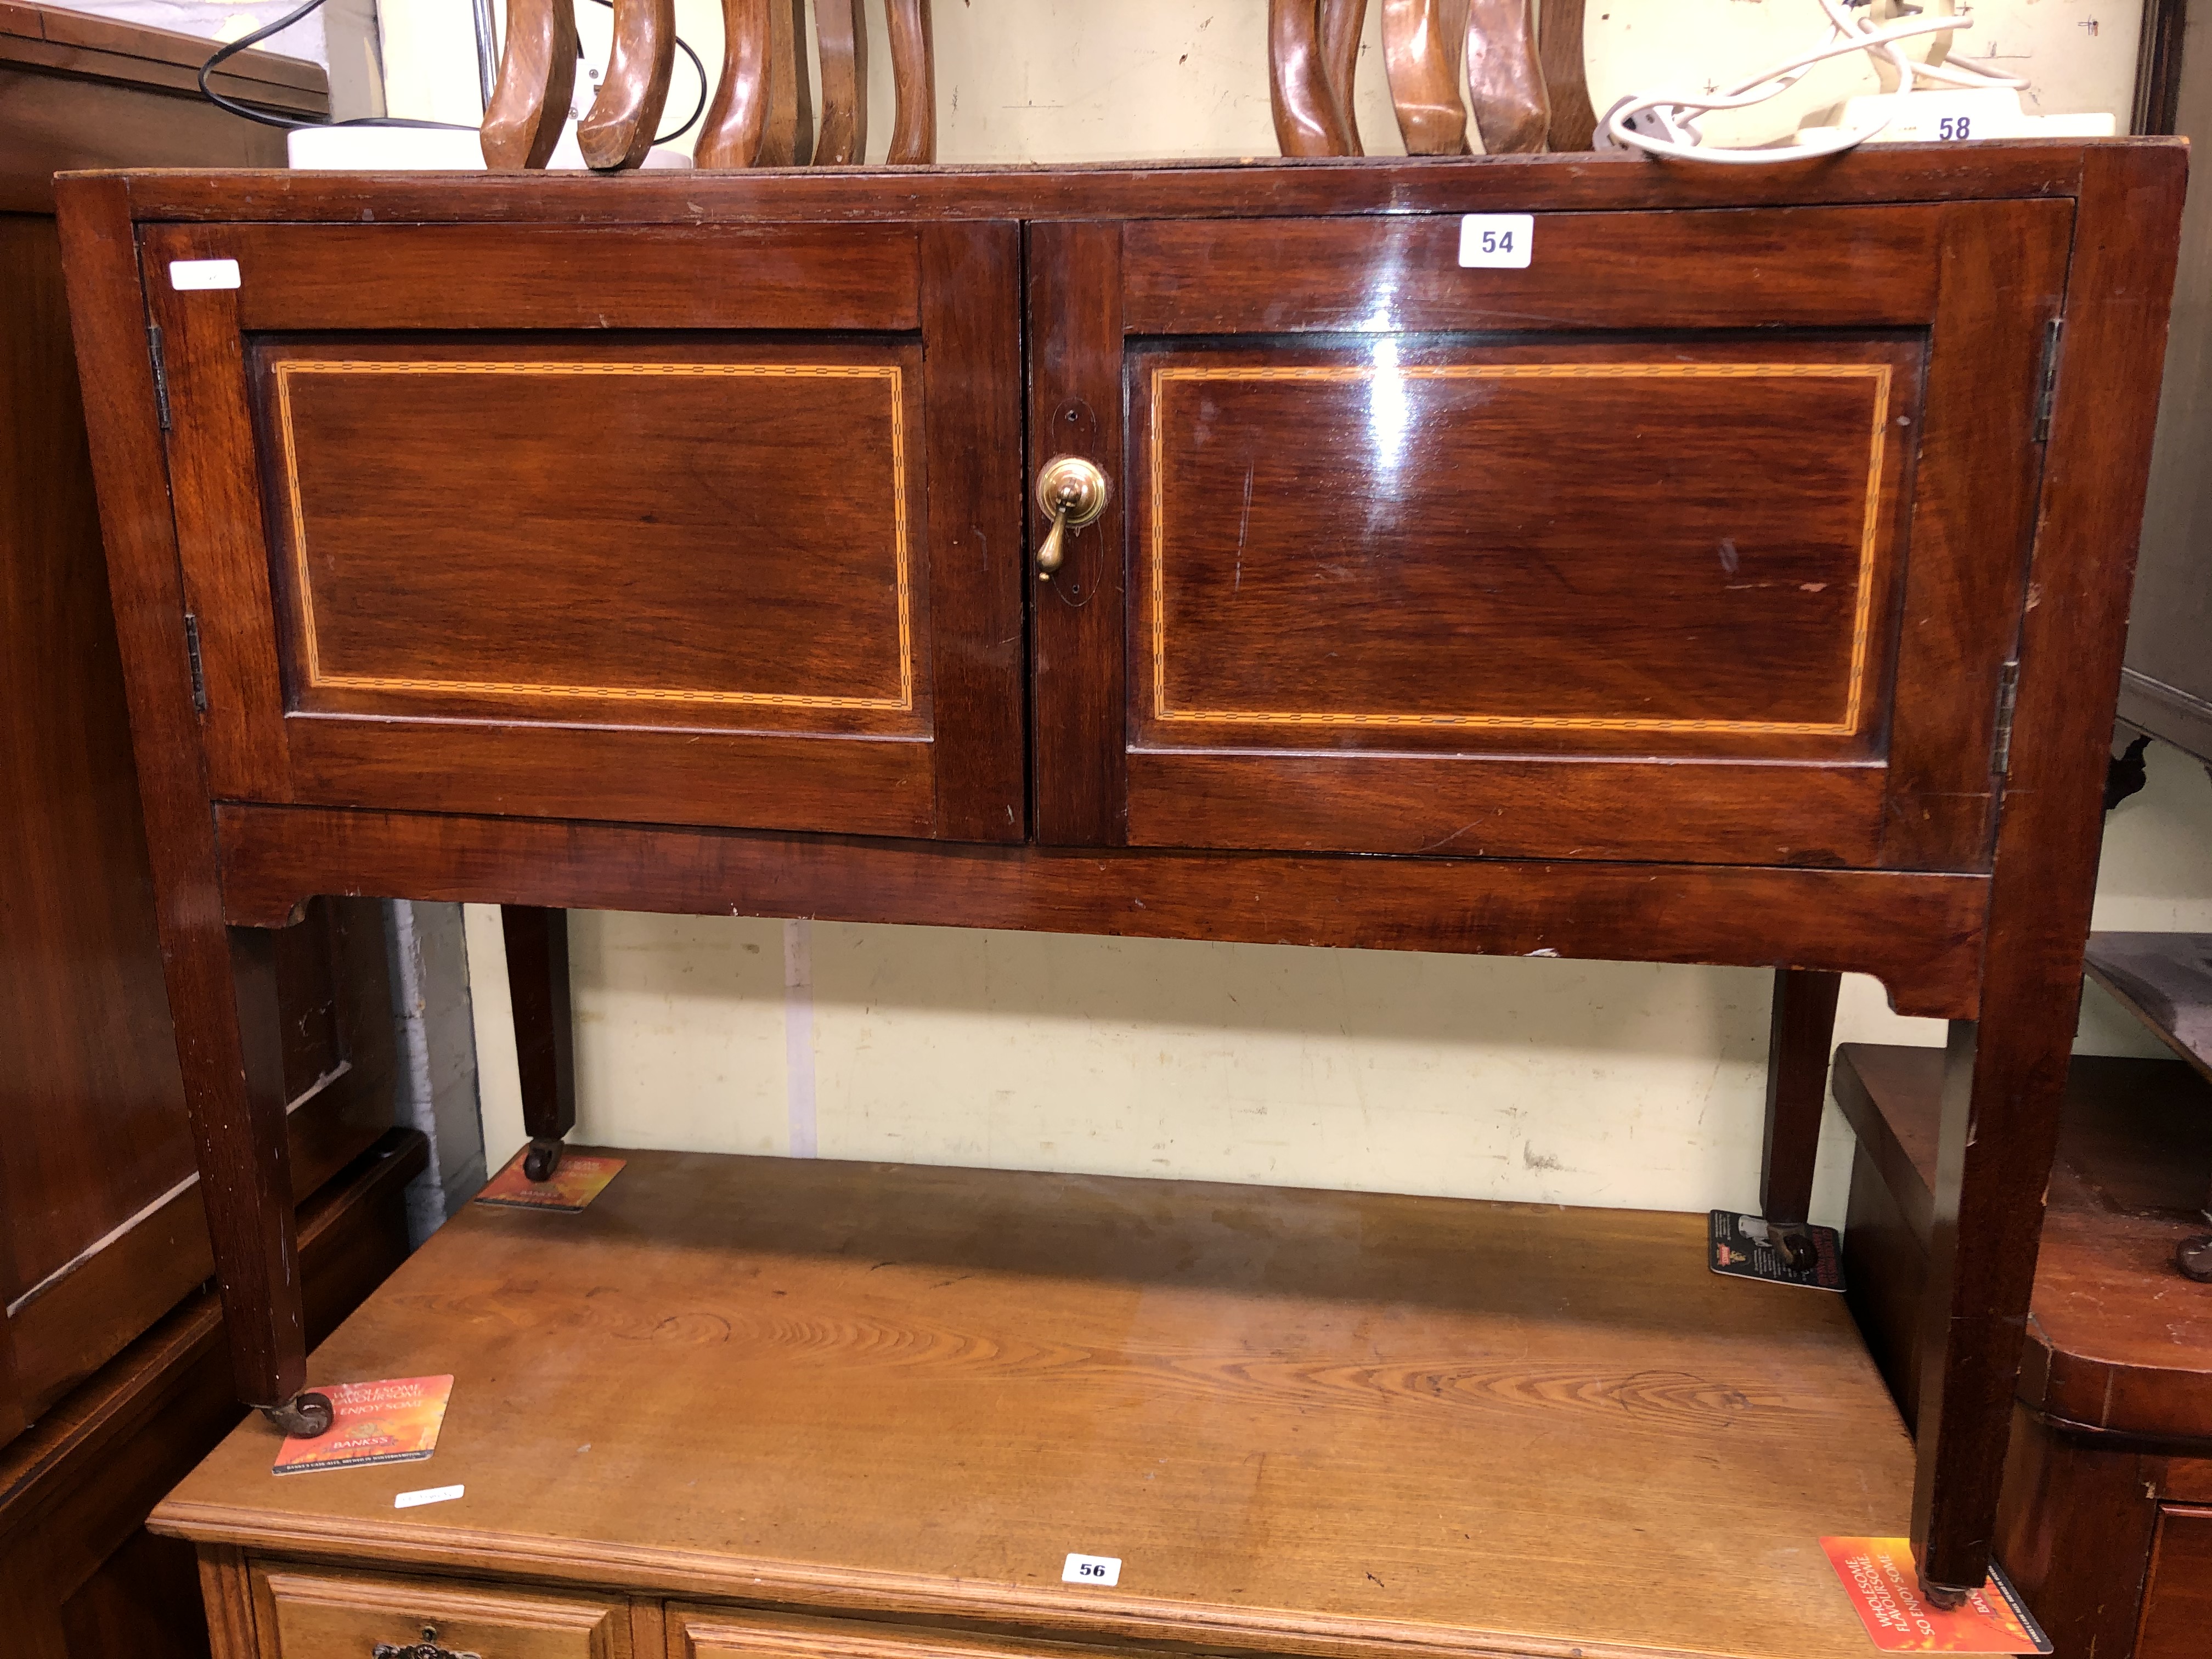
[[[938,847],[403,812],[219,807],[230,920],[310,894],[823,916],[1126,938],[1619,956],[1871,973],[1973,1013],[1986,880],[1847,869]],[[945,880],[956,860],[958,885]]]

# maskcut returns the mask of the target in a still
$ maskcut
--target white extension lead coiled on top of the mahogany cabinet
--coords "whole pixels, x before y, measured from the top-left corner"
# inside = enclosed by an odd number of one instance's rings
[[[1865,4],[1865,0],[1856,2]],[[1818,4],[1820,11],[1827,13],[1834,31],[1829,44],[1820,51],[1812,51],[1787,64],[1767,69],[1739,86],[1730,86],[1725,93],[1637,93],[1632,97],[1624,97],[1606,111],[1606,119],[1597,128],[1599,146],[1632,148],[1648,155],[1666,155],[1677,161],[1772,166],[1776,161],[1803,161],[1814,155],[1836,155],[1838,150],[1865,144],[1889,126],[1902,95],[1913,91],[1916,80],[1953,88],[2002,91],[2026,86],[2026,82],[2017,75],[1989,69],[1971,58],[1922,64],[1905,55],[1902,42],[1913,40],[1916,35],[1947,35],[1955,29],[1973,29],[1971,18],[1907,18],[1902,22],[1876,24],[1871,18],[1854,18],[1845,0],[1818,0]],[[1763,104],[1770,97],[1778,97],[1796,86],[1814,64],[1823,64],[1829,58],[1849,58],[1854,51],[1874,53],[1878,62],[1896,71],[1898,86],[1893,97],[1865,100],[1865,104],[1878,111],[1880,119],[1865,126],[1816,128],[1814,133],[1798,137],[1794,144],[1770,144],[1765,148],[1736,150],[1705,146],[1703,135],[1697,131],[1701,115],[1710,115],[1717,108],[1747,108],[1750,104]]]

